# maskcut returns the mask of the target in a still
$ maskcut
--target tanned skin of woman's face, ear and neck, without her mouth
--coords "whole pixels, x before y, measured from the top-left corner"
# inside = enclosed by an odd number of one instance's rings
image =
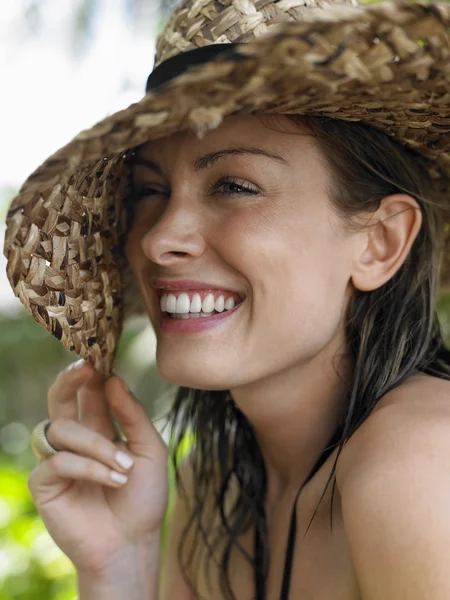
[[[201,140],[178,133],[141,147],[137,162],[147,166],[133,171],[139,199],[127,245],[160,372],[179,385],[230,390],[258,436],[274,507],[294,498],[345,411],[344,317],[354,289],[388,281],[421,225],[416,201],[397,194],[371,215],[378,227],[345,230],[314,139],[281,123],[280,132],[267,117],[230,117]],[[282,160],[241,153],[196,170],[194,159],[230,147]],[[169,335],[152,277],[220,284],[244,305],[224,326]]]

